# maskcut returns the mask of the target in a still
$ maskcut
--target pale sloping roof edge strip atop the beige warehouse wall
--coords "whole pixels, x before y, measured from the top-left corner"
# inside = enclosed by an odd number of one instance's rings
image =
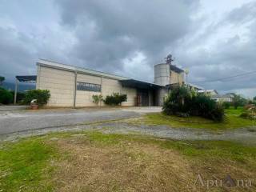
[[[37,62],[38,66],[47,66],[50,68],[57,68],[57,69],[62,69],[62,70],[70,70],[70,71],[77,71],[78,73],[82,73],[82,74],[93,74],[96,76],[100,76],[100,77],[106,77],[106,78],[114,78],[117,80],[124,80],[124,79],[130,79],[130,78],[126,78],[126,77],[122,77],[119,75],[115,75],[115,74],[108,74],[108,73],[104,73],[104,72],[100,72],[97,70],[88,70],[86,68],[82,68],[82,67],[78,67],[78,66],[70,66],[70,65],[66,65],[63,63],[59,63],[59,62],[52,62],[46,59],[39,59]]]

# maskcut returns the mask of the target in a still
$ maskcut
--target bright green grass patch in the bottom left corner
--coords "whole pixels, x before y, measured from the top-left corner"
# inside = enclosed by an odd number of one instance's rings
[[[56,157],[52,146],[40,138],[5,143],[0,150],[1,191],[51,191],[49,162]]]

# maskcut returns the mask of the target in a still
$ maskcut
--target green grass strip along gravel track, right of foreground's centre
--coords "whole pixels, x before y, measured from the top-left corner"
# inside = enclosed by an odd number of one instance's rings
[[[178,150],[188,158],[200,158],[202,161],[225,158],[242,163],[253,162],[256,168],[256,146],[246,146],[238,142],[174,141],[137,134],[102,134],[94,131],[83,132],[83,134],[85,139],[99,146],[119,146],[123,145],[123,142],[139,142],[158,145],[164,149]]]

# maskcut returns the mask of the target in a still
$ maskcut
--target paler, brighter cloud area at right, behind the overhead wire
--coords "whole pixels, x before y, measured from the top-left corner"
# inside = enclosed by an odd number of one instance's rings
[[[256,3],[252,2],[230,11],[220,22],[209,23],[203,33],[190,44],[185,42],[189,46],[175,50],[179,62],[190,68],[190,82],[198,82],[200,86],[222,92],[256,88],[255,74],[207,82],[256,70],[255,9]],[[246,25],[245,31],[242,34],[235,33],[241,24]],[[230,30],[234,30],[234,36],[216,38],[213,45],[205,48],[204,42],[207,42],[208,38],[213,38],[216,31],[225,29],[227,25],[231,26]]]

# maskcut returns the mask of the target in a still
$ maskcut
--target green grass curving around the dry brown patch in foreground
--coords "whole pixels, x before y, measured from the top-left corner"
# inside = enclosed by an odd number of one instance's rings
[[[79,137],[76,137],[75,135],[78,134]],[[74,141],[75,139],[80,141],[82,139],[87,142],[85,144],[79,142],[78,145],[97,146],[99,148],[109,146],[113,149],[120,149],[122,146],[121,149],[125,149],[123,146],[129,148],[128,143],[131,145],[138,143],[138,146],[141,144],[158,146],[163,150],[174,150],[184,158],[189,159],[195,170],[204,169],[203,166],[218,167],[218,165],[225,165],[225,163],[233,163],[232,166],[239,167],[239,169],[256,171],[256,146],[244,146],[236,142],[225,141],[172,141],[141,135],[80,131],[48,134],[43,137],[26,138],[19,142],[2,144],[0,150],[0,191],[54,191],[55,186],[52,181],[54,167],[51,165],[51,161],[54,160],[58,163],[62,159],[60,157],[66,153],[66,151],[55,148],[56,138],[67,141]],[[215,170],[216,173],[218,171],[220,170]],[[235,171],[238,170],[234,168],[232,171],[231,173],[236,173]]]

